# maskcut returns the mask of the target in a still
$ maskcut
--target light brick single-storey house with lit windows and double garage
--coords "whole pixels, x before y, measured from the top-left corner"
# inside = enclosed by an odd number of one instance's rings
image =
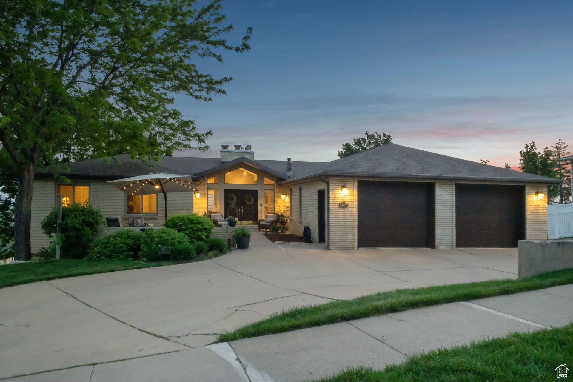
[[[250,147],[248,147],[250,148]],[[256,160],[254,152],[223,145],[218,158],[162,157],[150,168],[116,160],[69,163],[36,174],[32,250],[48,245],[40,222],[56,205],[89,202],[104,216],[143,214],[164,222],[162,194],[127,196],[109,180],[166,172],[190,175],[198,190],[168,196],[167,212],[238,215],[256,224],[266,214],[287,216],[301,235],[330,249],[367,247],[515,247],[520,239],[547,239],[547,186],[559,180],[439,155],[398,144],[380,145],[332,162]],[[198,194],[198,195],[197,195]],[[199,197],[197,197],[199,196]]]

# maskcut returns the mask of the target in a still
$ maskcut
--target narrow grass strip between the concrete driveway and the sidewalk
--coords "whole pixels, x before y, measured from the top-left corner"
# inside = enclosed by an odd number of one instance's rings
[[[311,328],[357,318],[379,316],[402,310],[468,301],[477,298],[501,296],[549,288],[573,283],[573,268],[538,274],[520,280],[503,279],[470,282],[454,285],[429,286],[426,288],[398,289],[375,293],[352,300],[333,301],[316,306],[295,307],[275,313],[264,320],[242,326],[232,332],[218,335],[219,342],[241,338],[284,333],[291,330]]]

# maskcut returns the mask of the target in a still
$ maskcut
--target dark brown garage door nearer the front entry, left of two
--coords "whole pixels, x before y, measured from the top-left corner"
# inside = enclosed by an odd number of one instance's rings
[[[358,182],[358,247],[434,247],[434,183]]]

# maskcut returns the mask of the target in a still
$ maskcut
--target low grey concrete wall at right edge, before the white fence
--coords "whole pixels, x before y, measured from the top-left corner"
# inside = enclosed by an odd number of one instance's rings
[[[519,278],[573,268],[573,240],[520,240],[517,263]]]

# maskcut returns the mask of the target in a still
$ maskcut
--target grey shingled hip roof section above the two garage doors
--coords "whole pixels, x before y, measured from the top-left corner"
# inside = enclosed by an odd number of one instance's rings
[[[371,176],[407,179],[482,180],[494,182],[559,183],[560,180],[527,172],[508,170],[489,164],[386,143],[325,163],[300,174],[295,180],[323,176]]]

